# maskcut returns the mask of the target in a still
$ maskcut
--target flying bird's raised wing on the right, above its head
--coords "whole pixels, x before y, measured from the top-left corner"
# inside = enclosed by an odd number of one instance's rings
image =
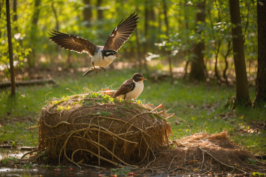
[[[122,19],[123,22],[121,21],[122,23],[120,22],[114,31],[109,35],[103,47],[104,50],[118,51],[123,46],[137,26],[137,19],[139,17],[136,17],[138,14],[134,14],[135,12],[131,14],[125,21]]]

